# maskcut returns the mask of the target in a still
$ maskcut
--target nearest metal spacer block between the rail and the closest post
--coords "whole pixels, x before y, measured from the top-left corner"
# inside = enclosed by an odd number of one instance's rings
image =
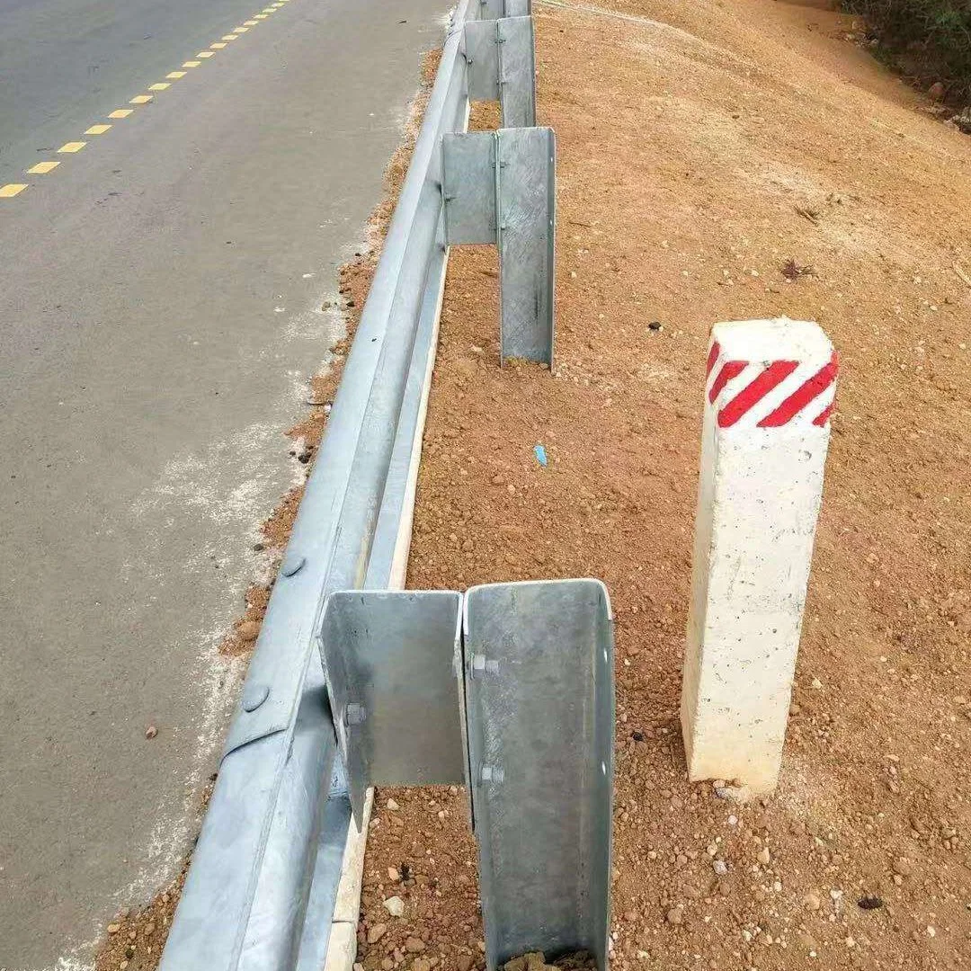
[[[358,827],[368,787],[467,781],[461,601],[339,590],[324,604],[320,653]]]

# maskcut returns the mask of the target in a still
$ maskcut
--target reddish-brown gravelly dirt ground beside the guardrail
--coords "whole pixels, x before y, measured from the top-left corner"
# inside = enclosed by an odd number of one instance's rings
[[[534,15],[556,361],[499,369],[494,253],[454,249],[408,585],[609,587],[619,971],[971,967],[971,140],[817,5]],[[782,780],[739,804],[678,721],[705,351],[778,316],[841,386]],[[378,793],[365,971],[483,964],[464,807]]]

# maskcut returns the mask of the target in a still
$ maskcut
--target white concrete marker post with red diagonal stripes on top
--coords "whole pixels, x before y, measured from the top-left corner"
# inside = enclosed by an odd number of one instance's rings
[[[681,702],[691,780],[778,781],[836,373],[815,323],[712,330]]]

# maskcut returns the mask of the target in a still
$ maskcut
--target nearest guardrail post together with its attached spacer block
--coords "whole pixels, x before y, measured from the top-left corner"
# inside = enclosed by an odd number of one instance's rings
[[[458,619],[461,615],[461,649]],[[487,971],[589,951],[607,971],[614,629],[606,587],[343,590],[320,648],[360,825],[367,787],[464,783]]]

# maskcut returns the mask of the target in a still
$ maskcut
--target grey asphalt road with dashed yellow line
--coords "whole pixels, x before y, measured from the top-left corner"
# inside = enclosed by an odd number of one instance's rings
[[[448,6],[0,0],[7,971],[86,966],[191,838],[319,308]]]

